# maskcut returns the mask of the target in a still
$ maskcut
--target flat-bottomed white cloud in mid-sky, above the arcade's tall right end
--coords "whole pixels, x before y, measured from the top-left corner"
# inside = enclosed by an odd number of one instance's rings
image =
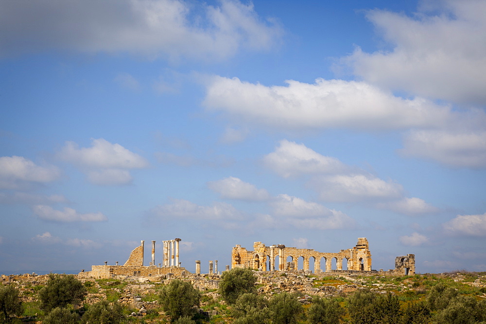
[[[342,174],[312,179],[324,201],[389,200],[402,196],[402,186],[369,174]]]

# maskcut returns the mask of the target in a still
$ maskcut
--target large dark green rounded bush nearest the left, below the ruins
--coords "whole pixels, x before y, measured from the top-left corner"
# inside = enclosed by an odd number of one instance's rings
[[[56,307],[80,303],[86,296],[86,288],[74,275],[49,275],[47,285],[39,292],[40,308],[50,311]]]

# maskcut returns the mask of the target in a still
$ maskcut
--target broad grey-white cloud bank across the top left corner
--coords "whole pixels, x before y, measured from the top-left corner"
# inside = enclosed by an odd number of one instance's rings
[[[229,0],[7,1],[0,29],[0,56],[60,49],[212,61],[269,49],[282,33],[252,3]]]

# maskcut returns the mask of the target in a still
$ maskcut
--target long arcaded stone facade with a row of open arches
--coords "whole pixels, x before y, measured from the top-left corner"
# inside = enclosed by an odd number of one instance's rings
[[[288,260],[290,258],[290,261]],[[371,271],[371,253],[366,238],[358,238],[358,243],[353,248],[341,250],[337,253],[317,252],[313,249],[298,249],[285,245],[265,246],[261,242],[253,244],[253,251],[247,251],[241,245],[236,245],[231,253],[232,267],[248,267],[261,271],[289,271],[297,269],[297,260],[302,258],[302,269],[311,270],[313,273],[330,272],[332,260],[336,262],[336,270],[343,269],[343,261],[347,264],[347,270]],[[314,263],[313,269],[309,269],[309,261]],[[321,260],[323,264],[321,266]],[[278,266],[276,267],[276,264]],[[322,268],[321,268],[322,267]]]

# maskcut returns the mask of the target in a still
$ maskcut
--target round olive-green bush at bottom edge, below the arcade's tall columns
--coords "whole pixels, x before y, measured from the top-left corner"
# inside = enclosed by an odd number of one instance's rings
[[[271,310],[273,323],[278,324],[297,323],[304,312],[302,304],[297,300],[297,295],[288,292],[272,297],[268,308]]]

